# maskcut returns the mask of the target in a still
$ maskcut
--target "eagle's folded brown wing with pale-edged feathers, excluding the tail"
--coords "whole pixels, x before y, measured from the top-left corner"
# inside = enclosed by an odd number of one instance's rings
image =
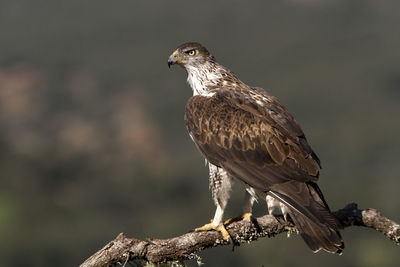
[[[300,141],[304,134],[289,113],[280,116],[287,115],[286,125],[295,132],[271,116],[270,106],[276,103],[261,107],[251,101],[245,94],[221,89],[212,97],[189,99],[186,125],[204,156],[262,191],[292,179],[317,181],[318,161]]]

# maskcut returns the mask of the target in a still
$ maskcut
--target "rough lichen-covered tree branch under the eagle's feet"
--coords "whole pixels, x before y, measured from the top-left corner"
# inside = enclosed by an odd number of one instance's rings
[[[343,228],[353,225],[373,228],[397,245],[400,244],[400,225],[375,209],[359,210],[357,204],[350,203],[334,212]],[[259,227],[252,227],[249,222],[239,221],[227,226],[227,230],[236,242],[250,243],[260,237],[272,237],[283,232],[297,232],[291,222],[281,216],[265,215],[256,219]],[[148,241],[128,238],[120,233],[104,248],[89,257],[80,267],[108,266],[124,264],[131,260],[161,263],[199,259],[197,252],[219,245],[228,245],[215,231],[192,232],[169,239],[151,239]]]

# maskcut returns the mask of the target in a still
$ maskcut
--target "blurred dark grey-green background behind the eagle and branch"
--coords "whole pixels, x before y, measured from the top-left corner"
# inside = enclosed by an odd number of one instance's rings
[[[167,238],[209,221],[208,171],[183,121],[191,89],[167,68],[187,41],[291,111],[333,210],[355,201],[400,221],[399,10],[395,0],[1,1],[1,265],[77,266],[120,232]],[[242,197],[237,185],[227,216]],[[200,256],[400,266],[383,235],[343,237],[342,256],[284,235]]]

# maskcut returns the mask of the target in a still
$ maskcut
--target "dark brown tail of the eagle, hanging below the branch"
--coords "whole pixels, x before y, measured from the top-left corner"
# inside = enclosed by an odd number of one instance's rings
[[[323,249],[342,254],[344,242],[339,222],[332,215],[316,183],[292,180],[273,186],[269,194],[289,208],[291,219],[312,251]]]

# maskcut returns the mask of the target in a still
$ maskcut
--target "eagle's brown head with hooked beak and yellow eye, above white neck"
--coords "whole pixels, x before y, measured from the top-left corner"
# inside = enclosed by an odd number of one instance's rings
[[[197,67],[208,61],[213,61],[214,57],[208,50],[199,43],[185,43],[169,56],[168,67],[179,64],[184,68]]]

